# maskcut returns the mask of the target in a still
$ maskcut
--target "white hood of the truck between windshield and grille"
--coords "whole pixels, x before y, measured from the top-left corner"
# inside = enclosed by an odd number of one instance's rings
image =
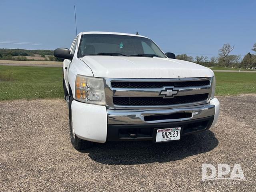
[[[103,78],[192,78],[212,77],[209,68],[193,62],[157,58],[125,56],[84,56],[94,77]]]

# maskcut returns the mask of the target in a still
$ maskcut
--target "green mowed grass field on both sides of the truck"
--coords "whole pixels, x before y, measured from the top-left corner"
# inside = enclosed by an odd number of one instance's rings
[[[216,95],[256,93],[256,73],[215,72]],[[0,66],[0,100],[63,98],[62,68]]]

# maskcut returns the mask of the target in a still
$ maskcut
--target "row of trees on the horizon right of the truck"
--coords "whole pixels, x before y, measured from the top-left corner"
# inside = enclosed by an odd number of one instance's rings
[[[229,67],[229,68],[246,68],[256,69],[256,54],[250,52],[243,58],[240,55],[232,55],[230,52],[234,50],[234,46],[230,44],[224,44],[218,51],[217,57],[211,57],[208,59],[207,56],[188,56],[186,54],[177,55],[176,58],[180,60],[196,62],[197,64],[208,66],[208,67]],[[256,52],[256,43],[252,47],[252,51]]]

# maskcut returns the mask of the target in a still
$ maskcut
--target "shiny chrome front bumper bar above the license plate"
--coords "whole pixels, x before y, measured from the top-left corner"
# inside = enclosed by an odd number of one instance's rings
[[[181,122],[186,120],[195,120],[199,118],[215,115],[216,105],[212,102],[204,105],[190,106],[186,108],[174,109],[154,109],[154,110],[112,110],[107,109],[108,124],[152,124],[163,122]],[[146,116],[166,116],[176,113],[191,113],[190,117],[172,118],[162,120],[145,121]]]

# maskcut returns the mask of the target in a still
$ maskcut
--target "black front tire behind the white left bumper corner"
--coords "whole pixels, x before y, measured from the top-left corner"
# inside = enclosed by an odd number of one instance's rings
[[[76,134],[74,133],[73,122],[72,122],[72,111],[71,111],[71,103],[73,100],[74,100],[74,98],[73,98],[73,96],[71,96],[69,99],[69,104],[68,104],[70,140],[71,140],[73,147],[76,150],[88,149],[93,146],[93,142],[82,140],[82,139],[78,138],[76,136]]]

